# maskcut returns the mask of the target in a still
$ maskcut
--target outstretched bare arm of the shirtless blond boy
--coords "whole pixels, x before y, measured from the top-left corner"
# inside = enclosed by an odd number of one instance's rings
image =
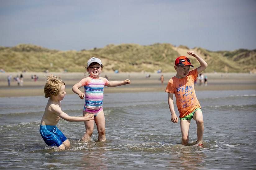
[[[62,119],[66,121],[89,121],[89,120],[94,120],[94,114],[85,114],[85,116],[69,116],[68,114],[62,112],[61,108],[56,105],[51,106],[51,110],[57,114],[57,116],[61,117]]]

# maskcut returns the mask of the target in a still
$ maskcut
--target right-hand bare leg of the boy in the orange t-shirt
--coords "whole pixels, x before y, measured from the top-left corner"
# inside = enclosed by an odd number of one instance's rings
[[[196,121],[196,131],[197,131],[197,143],[203,143],[203,113],[201,110],[195,111],[193,119]]]

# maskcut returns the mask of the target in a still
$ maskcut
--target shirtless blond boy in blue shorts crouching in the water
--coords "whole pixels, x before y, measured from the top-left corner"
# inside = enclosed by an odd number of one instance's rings
[[[65,83],[58,77],[49,75],[44,86],[44,97],[49,100],[41,120],[40,134],[48,146],[57,146],[61,150],[69,147],[70,143],[56,126],[60,117],[66,121],[94,120],[94,114],[74,117],[62,112],[61,100],[64,99],[65,94]]]

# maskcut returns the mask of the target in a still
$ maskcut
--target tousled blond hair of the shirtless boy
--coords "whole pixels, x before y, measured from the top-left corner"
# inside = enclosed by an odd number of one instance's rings
[[[65,85],[62,79],[57,76],[49,75],[44,86],[44,97],[57,96],[60,93],[62,85]]]

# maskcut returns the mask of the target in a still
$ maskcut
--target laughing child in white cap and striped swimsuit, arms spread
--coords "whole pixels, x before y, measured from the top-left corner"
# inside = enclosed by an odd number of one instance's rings
[[[105,116],[103,113],[103,89],[104,86],[116,87],[125,84],[130,84],[130,80],[126,79],[124,81],[108,81],[107,79],[100,77],[103,69],[102,62],[99,58],[92,57],[88,60],[85,69],[89,73],[89,77],[86,77],[80,82],[76,83],[72,90],[74,93],[78,94],[80,99],[85,97],[84,115],[85,114],[95,114],[94,121],[98,130],[98,140],[99,142],[106,141],[105,134]],[[85,88],[85,92],[79,90],[80,87]],[[85,121],[85,135],[82,140],[84,142],[89,142],[93,134],[94,121]]]

